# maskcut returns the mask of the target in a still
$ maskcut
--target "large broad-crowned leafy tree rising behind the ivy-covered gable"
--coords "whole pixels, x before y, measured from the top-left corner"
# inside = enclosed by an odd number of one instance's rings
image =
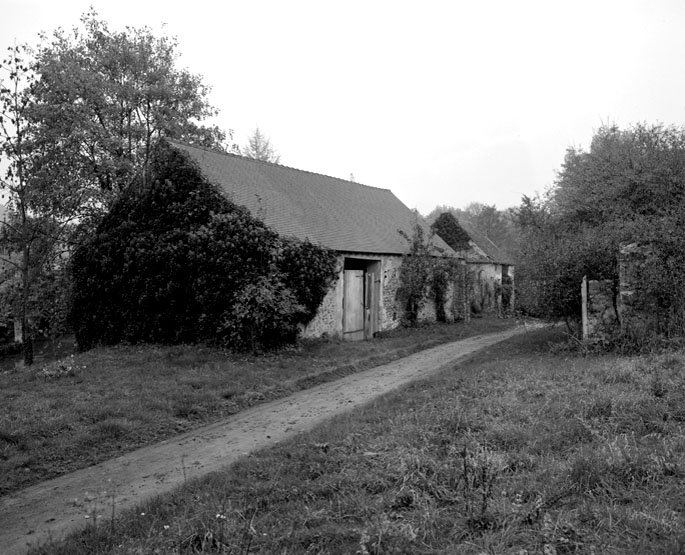
[[[145,176],[162,137],[224,145],[223,131],[201,124],[217,110],[201,77],[177,67],[177,46],[147,27],[113,31],[92,9],[81,28],[42,36],[34,91],[40,140],[103,192],[95,208]]]

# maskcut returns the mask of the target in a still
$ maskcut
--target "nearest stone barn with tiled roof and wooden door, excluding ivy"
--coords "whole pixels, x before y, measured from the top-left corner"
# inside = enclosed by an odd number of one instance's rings
[[[186,153],[211,183],[285,237],[309,240],[338,253],[338,279],[304,337],[368,339],[399,325],[397,299],[403,255],[418,222],[427,224],[388,189],[169,141]],[[405,236],[403,236],[403,234]],[[459,258],[439,237],[443,256]],[[430,303],[425,319],[435,317]],[[452,299],[446,304],[454,305]]]

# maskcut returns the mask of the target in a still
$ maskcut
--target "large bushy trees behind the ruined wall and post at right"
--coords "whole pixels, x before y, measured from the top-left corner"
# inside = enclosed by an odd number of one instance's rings
[[[589,151],[569,149],[543,199],[524,198],[517,268],[520,303],[532,313],[580,316],[580,281],[617,279],[619,245],[652,253],[640,280],[656,299],[659,332],[683,331],[685,130],[639,124],[602,127]]]

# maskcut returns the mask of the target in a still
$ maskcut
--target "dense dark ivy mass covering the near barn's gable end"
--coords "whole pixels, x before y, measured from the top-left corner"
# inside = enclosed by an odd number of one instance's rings
[[[157,149],[150,175],[73,257],[79,347],[206,341],[256,350],[294,341],[335,275],[335,256],[282,241],[171,147]]]

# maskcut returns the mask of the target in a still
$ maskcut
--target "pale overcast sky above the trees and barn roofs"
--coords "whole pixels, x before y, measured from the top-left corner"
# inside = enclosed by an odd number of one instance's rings
[[[682,0],[0,0],[0,47],[90,5],[176,36],[239,144],[423,214],[518,205],[602,123],[685,123]]]

